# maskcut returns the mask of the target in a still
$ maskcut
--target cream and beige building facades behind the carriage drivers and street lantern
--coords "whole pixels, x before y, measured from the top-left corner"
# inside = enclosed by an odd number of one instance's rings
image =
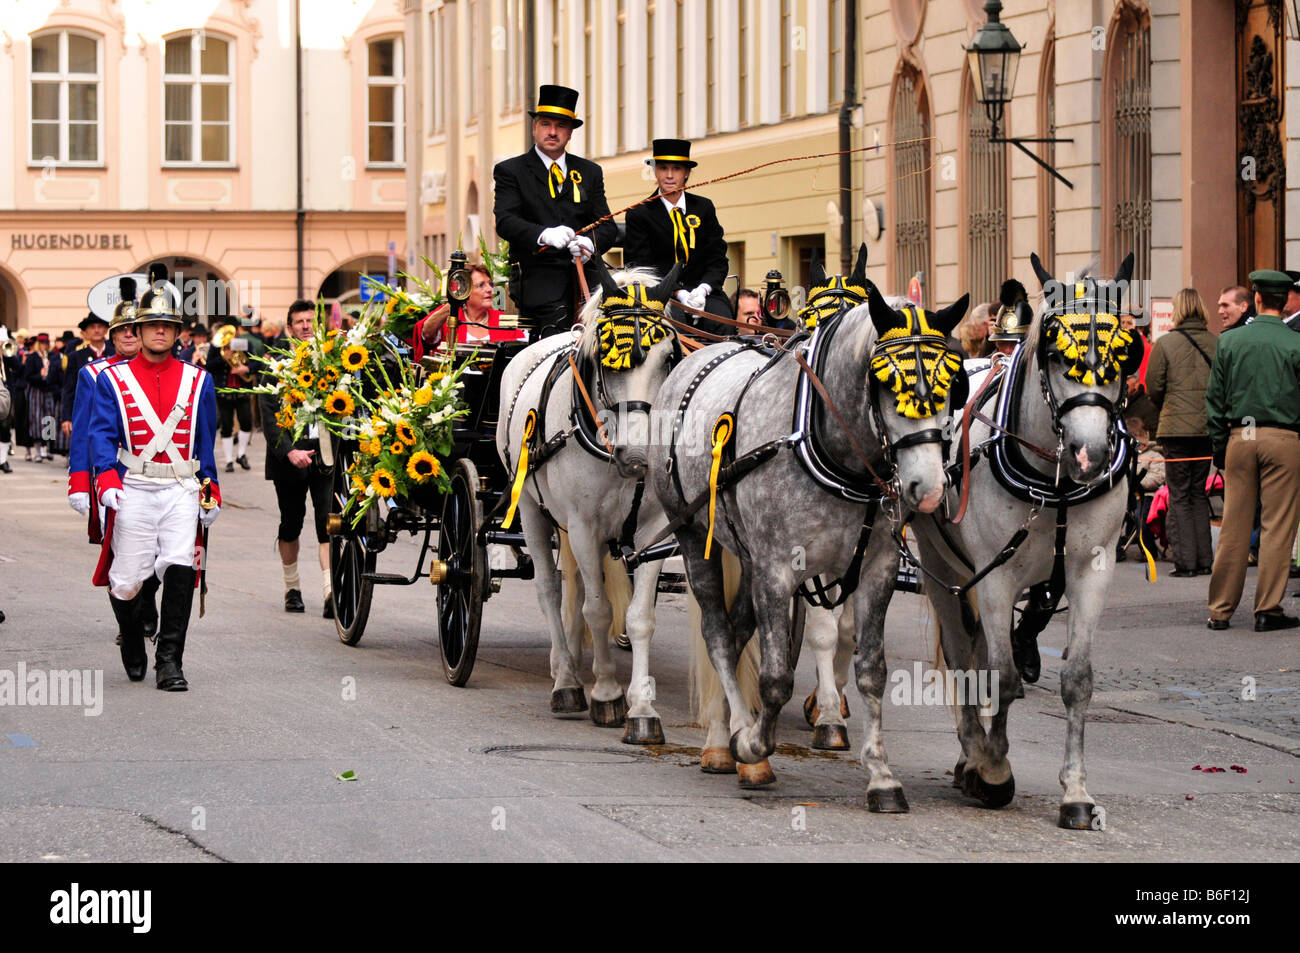
[[[867,242],[889,291],[927,304],[1002,280],[1036,287],[1030,254],[1070,272],[1132,251],[1138,294],[1206,299],[1256,267],[1300,267],[1300,44],[1290,0],[1008,0],[1024,47],[998,134],[1031,143],[1070,185],[991,142],[965,47],[982,0],[408,0],[408,122],[419,176],[408,244],[443,260],[494,241],[491,166],[530,144],[540,83],[581,92],[571,143],[606,172],[619,211],[654,186],[656,137],[694,142],[746,286],[806,281],[811,254]],[[845,13],[855,25],[850,174],[841,182]],[[416,108],[417,107],[417,108]],[[1300,165],[1295,166],[1300,168]],[[618,252],[610,256],[618,259]],[[734,282],[732,282],[734,286]]]

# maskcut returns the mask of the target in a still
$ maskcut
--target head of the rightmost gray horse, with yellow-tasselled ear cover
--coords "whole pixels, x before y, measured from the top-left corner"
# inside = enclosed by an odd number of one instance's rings
[[[1050,425],[1070,480],[1088,484],[1110,467],[1118,419],[1123,407],[1124,377],[1141,367],[1145,342],[1119,322],[1119,304],[1130,278],[1130,254],[1112,281],[1084,272],[1062,282],[1031,255],[1034,273],[1043,285],[1043,309],[1031,326],[1039,384],[1052,415]]]

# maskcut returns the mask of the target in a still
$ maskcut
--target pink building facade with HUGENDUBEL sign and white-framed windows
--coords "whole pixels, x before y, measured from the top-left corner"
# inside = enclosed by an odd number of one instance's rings
[[[0,1],[5,326],[73,328],[95,282],[155,260],[209,320],[283,320],[299,294],[355,298],[390,247],[400,265],[400,7],[312,0],[296,21],[276,0]]]

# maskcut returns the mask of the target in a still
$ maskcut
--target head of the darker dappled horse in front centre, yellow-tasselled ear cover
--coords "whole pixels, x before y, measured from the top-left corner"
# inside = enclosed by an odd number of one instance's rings
[[[880,294],[867,299],[876,341],[867,382],[880,439],[904,502],[933,512],[944,495],[949,419],[966,402],[966,372],[948,337],[966,315],[968,295],[942,311],[894,311]]]

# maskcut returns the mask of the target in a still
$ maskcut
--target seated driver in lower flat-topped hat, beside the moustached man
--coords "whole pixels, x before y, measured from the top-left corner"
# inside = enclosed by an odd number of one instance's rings
[[[623,260],[632,268],[653,268],[667,274],[681,263],[676,298],[696,311],[732,317],[731,302],[723,291],[727,281],[727,241],[718,222],[714,203],[686,192],[686,179],[698,163],[690,159],[685,139],[655,139],[654,164],[658,183],[654,202],[637,205],[627,217]],[[696,315],[686,321],[714,334],[731,334],[733,328]]]

